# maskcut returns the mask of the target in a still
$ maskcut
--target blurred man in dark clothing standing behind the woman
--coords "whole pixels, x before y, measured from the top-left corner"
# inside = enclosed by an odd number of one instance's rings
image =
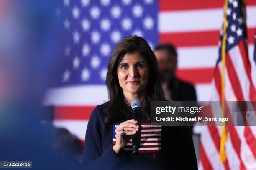
[[[162,76],[162,87],[166,100],[196,101],[197,96],[192,84],[179,80],[175,76],[177,68],[177,52],[173,45],[160,44],[154,53],[158,60]]]

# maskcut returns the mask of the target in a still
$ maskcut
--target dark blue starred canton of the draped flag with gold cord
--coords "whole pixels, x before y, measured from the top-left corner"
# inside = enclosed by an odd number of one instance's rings
[[[246,24],[243,15],[243,9],[241,8],[242,0],[228,0],[227,9],[227,38],[226,38],[226,52],[231,48],[238,45],[239,41],[246,39]],[[220,31],[219,42],[219,58],[221,60],[221,46],[223,40],[223,29]]]

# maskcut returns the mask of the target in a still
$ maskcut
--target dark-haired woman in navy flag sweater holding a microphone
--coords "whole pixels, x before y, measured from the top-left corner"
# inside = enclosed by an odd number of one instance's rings
[[[115,47],[106,77],[109,101],[92,111],[82,163],[108,169],[197,169],[188,127],[151,125],[153,100],[164,100],[154,52],[141,37],[125,37]],[[143,102],[141,148],[131,153],[131,136],[138,132],[130,103]]]

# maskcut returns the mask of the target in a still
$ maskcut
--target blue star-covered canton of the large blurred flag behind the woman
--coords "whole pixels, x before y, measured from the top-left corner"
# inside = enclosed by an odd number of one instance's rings
[[[55,14],[67,37],[59,86],[105,84],[110,55],[123,37],[141,36],[152,49],[158,43],[156,0],[63,0]]]

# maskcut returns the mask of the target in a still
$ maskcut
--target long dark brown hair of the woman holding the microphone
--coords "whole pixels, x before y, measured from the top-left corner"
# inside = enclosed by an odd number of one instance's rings
[[[149,79],[146,87],[147,101],[143,107],[143,112],[147,115],[148,120],[150,120],[151,101],[164,100],[159,67],[154,52],[142,37],[137,35],[125,37],[116,45],[108,62],[106,85],[110,100],[104,110],[106,123],[128,119],[130,110],[125,101],[123,90],[119,85],[117,68],[125,54],[135,52],[145,57],[149,68]]]

